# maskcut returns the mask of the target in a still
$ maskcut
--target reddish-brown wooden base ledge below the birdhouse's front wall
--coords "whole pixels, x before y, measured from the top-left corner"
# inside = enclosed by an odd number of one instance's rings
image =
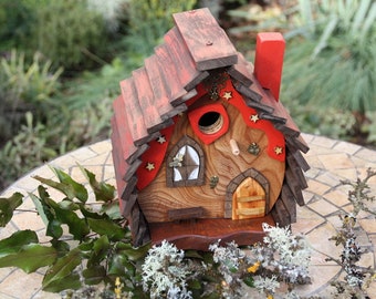
[[[221,240],[221,244],[236,241],[239,246],[261,241],[264,233],[262,224],[275,226],[271,215],[261,218],[232,219],[191,219],[173,223],[149,224],[152,243],[163,240],[175,244],[180,249],[207,251],[210,244]]]

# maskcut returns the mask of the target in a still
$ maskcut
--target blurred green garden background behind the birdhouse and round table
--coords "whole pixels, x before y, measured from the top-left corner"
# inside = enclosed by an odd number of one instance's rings
[[[250,61],[257,32],[284,34],[281,101],[302,132],[376,147],[373,0],[1,0],[0,190],[108,138],[118,82],[199,7]]]

